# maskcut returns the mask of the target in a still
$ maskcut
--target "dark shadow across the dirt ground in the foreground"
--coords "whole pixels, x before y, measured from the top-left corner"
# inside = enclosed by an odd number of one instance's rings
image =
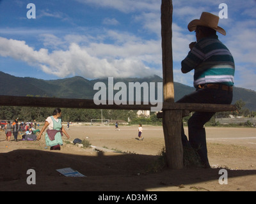
[[[206,182],[212,182],[208,190],[214,191],[220,186],[218,168],[164,168],[154,173],[152,170],[156,168],[157,159],[159,156],[139,154],[99,152],[95,156],[80,156],[41,150],[14,150],[0,154],[0,191],[172,191],[172,187],[179,191],[184,185],[192,186],[190,190],[193,190],[193,186]],[[64,177],[56,171],[68,167],[86,177]],[[26,182],[29,169],[36,171],[36,185]],[[256,175],[256,170],[228,170],[228,179],[250,175]],[[214,188],[215,184],[217,188]],[[233,186],[231,190],[239,190],[238,187]]]

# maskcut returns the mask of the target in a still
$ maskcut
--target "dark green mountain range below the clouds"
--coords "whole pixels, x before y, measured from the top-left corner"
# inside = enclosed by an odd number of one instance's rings
[[[95,93],[99,92],[99,90],[93,90],[93,86],[97,82],[103,82],[107,85],[108,89],[108,78],[88,80],[83,77],[72,77],[58,80],[42,80],[32,77],[15,77],[0,71],[0,95],[93,99]],[[150,82],[163,82],[163,78],[158,77],[157,75],[147,78],[114,78],[114,85],[116,82],[124,82],[125,85],[129,87],[129,82],[139,82],[140,84],[147,82],[147,84],[149,84]],[[174,82],[175,101],[193,91],[195,91],[194,87]],[[114,91],[114,94],[115,92],[118,91]],[[142,94],[143,91],[141,92],[141,95]],[[234,98],[232,104],[236,103],[236,101],[240,99],[246,103],[245,108],[248,108],[250,111],[256,110],[255,91],[241,87],[234,87]]]

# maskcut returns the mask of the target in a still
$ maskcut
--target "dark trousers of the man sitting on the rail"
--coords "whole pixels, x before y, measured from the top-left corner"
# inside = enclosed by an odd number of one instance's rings
[[[232,91],[223,91],[221,89],[197,89],[195,92],[184,96],[177,103],[212,103],[212,104],[231,104],[233,98]],[[215,114],[212,112],[195,112],[188,120],[189,140],[184,133],[183,123],[181,130],[182,145],[190,145],[197,150],[202,163],[209,165],[207,156],[207,145],[204,125]]]

